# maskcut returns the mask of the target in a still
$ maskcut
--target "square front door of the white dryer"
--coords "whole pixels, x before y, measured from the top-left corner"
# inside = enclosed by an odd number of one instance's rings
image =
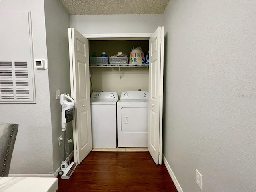
[[[121,109],[122,132],[148,132],[148,107],[123,107]]]

